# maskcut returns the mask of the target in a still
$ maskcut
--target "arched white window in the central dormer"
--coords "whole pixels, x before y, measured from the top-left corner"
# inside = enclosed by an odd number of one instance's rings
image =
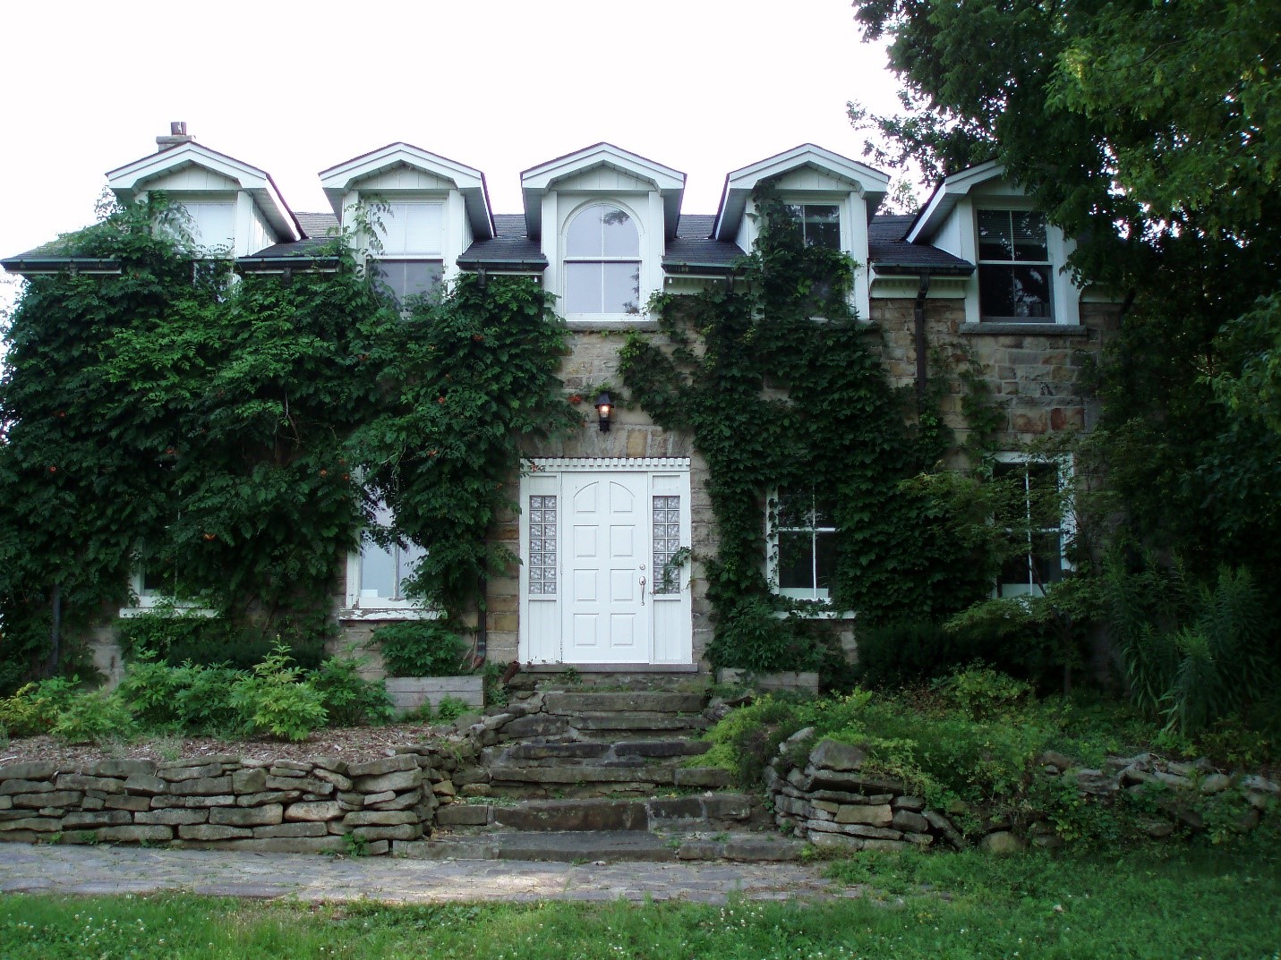
[[[640,312],[640,233],[616,206],[580,210],[565,234],[565,312]]]

